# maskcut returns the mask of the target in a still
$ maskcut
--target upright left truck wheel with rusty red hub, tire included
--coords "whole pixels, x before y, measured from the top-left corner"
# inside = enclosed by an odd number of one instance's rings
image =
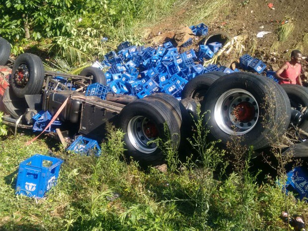
[[[13,65],[10,84],[15,95],[24,98],[25,95],[40,93],[44,78],[42,60],[36,55],[24,53],[17,57]]]

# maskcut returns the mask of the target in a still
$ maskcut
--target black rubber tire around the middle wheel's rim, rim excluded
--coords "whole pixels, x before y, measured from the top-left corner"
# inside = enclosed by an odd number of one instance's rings
[[[140,161],[142,165],[157,165],[164,162],[164,155],[161,150],[156,149],[151,154],[145,154],[138,151],[131,143],[127,131],[128,123],[135,116],[145,116],[152,121],[157,126],[158,137],[165,140],[166,136],[164,133],[164,123],[167,123],[170,134],[179,134],[180,136],[180,125],[177,120],[174,120],[176,112],[170,110],[170,106],[167,106],[162,101],[154,99],[138,99],[134,102],[127,104],[119,115],[119,128],[123,130],[124,142],[126,148],[126,155],[132,156],[135,160]],[[173,136],[174,141],[177,142],[179,146],[179,140],[176,136]]]

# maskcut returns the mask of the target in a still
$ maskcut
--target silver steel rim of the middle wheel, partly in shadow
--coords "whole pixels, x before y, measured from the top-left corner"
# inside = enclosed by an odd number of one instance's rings
[[[157,149],[154,143],[148,145],[148,142],[157,138],[158,129],[154,122],[145,116],[135,116],[129,121],[127,135],[139,152],[151,154]]]

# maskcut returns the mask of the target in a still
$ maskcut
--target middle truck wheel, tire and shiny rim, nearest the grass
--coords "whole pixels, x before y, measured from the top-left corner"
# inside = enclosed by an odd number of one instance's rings
[[[181,136],[181,120],[170,105],[151,98],[138,99],[127,104],[119,115],[119,127],[125,133],[126,155],[140,161],[142,165],[163,163],[163,152],[154,143],[148,142],[157,138],[167,141],[164,123],[171,135],[173,148],[177,150]]]

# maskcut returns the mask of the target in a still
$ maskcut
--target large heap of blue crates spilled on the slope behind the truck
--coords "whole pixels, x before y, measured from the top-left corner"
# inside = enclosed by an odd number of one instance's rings
[[[203,23],[190,28],[198,35],[208,33],[208,27]],[[190,43],[191,39],[184,47]],[[154,92],[164,92],[180,97],[185,82],[198,75],[213,71],[227,74],[239,71],[237,69],[232,71],[227,67],[219,68],[217,65],[209,65],[206,68],[202,66],[203,62],[212,59],[221,47],[221,43],[213,42],[199,45],[197,52],[190,49],[179,53],[178,48],[170,41],[157,48],[132,46],[129,42],[123,42],[118,46],[117,53],[111,51],[105,55],[101,66],[110,67],[105,77],[107,86],[114,93],[143,98]],[[261,61],[249,55],[240,57],[240,65],[246,70],[257,73],[262,73],[265,69]]]

